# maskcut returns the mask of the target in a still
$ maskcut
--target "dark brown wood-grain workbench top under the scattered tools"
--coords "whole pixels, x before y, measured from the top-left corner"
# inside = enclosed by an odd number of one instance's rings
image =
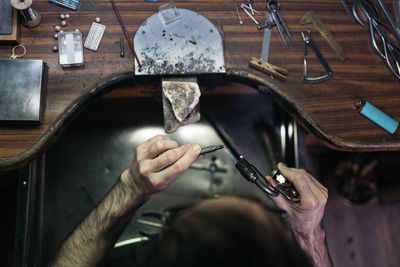
[[[37,28],[21,26],[21,43],[26,46],[27,59],[43,59],[49,67],[46,106],[43,123],[40,125],[0,125],[0,169],[15,168],[25,164],[46,150],[54,142],[63,126],[68,124],[80,107],[91,98],[110,90],[108,84],[121,80],[132,80],[130,94],[141,95],[145,87],[157,87],[134,77],[133,57],[125,45],[127,56],[119,56],[121,28],[108,0],[82,1],[78,11],[50,4],[47,0],[34,1],[33,7],[42,15]],[[166,1],[149,3],[144,0],[116,0],[127,30],[134,35],[141,23],[154,14]],[[391,9],[392,1],[385,1]],[[175,1],[178,8],[187,8],[207,17],[214,25],[219,16],[225,32],[226,80],[244,82],[251,80],[270,88],[272,96],[288,111],[299,118],[303,126],[315,133],[328,145],[342,150],[399,150],[400,138],[391,135],[352,109],[359,98],[370,101],[396,120],[400,120],[400,81],[386,68],[383,60],[370,45],[369,32],[360,25],[352,24],[341,1],[280,1],[281,12],[293,35],[295,46],[285,48],[277,30],[272,30],[269,61],[289,70],[288,80],[280,82],[248,67],[251,56],[259,57],[263,31],[244,12],[244,25],[238,18],[231,0]],[[254,7],[264,10],[265,1],[254,1]],[[314,9],[327,28],[347,52],[349,59],[340,61],[327,42],[310,25],[300,25],[303,14]],[[84,39],[96,16],[107,26],[99,50],[84,49],[85,65],[79,68],[62,69],[58,53],[51,47],[57,44],[53,38],[53,26],[60,23],[59,15],[69,13],[64,30],[80,29]],[[264,21],[264,16],[257,17]],[[334,76],[321,84],[303,84],[303,41],[300,32],[310,29],[324,57],[334,71]],[[0,57],[10,56],[10,46],[0,46]],[[313,54],[311,51],[309,54]],[[321,74],[322,67],[311,56],[309,73]],[[254,83],[252,83],[254,84]],[[241,93],[240,86],[216,88],[215,92]],[[127,86],[127,85],[125,85]],[[127,86],[129,87],[129,86]],[[221,107],[223,109],[223,107]]]

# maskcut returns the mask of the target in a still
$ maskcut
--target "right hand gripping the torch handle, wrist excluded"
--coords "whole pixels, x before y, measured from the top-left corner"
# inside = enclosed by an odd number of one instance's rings
[[[300,194],[300,203],[286,200],[282,195],[272,198],[276,205],[288,213],[295,235],[310,238],[322,232],[321,220],[324,216],[328,190],[305,170],[288,168],[279,163],[278,170],[293,183]],[[268,177],[271,180],[271,177]]]

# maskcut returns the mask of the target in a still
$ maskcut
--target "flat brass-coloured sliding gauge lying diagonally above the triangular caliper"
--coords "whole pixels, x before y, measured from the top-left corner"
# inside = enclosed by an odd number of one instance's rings
[[[325,38],[325,40],[331,46],[333,51],[335,51],[335,53],[339,57],[339,59],[342,61],[346,60],[347,59],[346,52],[343,50],[342,46],[335,40],[333,35],[328,31],[328,29],[325,27],[324,23],[322,23],[322,21],[317,17],[317,15],[314,13],[314,11],[312,9],[310,9],[303,15],[303,17],[300,20],[300,24],[308,24],[311,22],[318,29],[318,31],[322,35],[322,37]]]

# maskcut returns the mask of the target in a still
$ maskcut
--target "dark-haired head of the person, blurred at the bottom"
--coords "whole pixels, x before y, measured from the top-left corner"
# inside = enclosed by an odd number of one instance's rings
[[[311,266],[277,213],[221,197],[182,212],[158,240],[148,266]]]

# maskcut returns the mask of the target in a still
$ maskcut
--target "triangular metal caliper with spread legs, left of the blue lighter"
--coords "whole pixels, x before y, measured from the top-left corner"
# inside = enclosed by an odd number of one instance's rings
[[[304,73],[303,73],[303,77],[302,77],[303,82],[304,83],[321,83],[321,82],[329,80],[333,76],[333,71],[329,67],[328,62],[326,62],[325,58],[322,56],[317,45],[311,39],[311,32],[310,31],[301,32],[301,35],[303,36],[303,40],[304,40]],[[314,53],[317,56],[319,62],[321,62],[322,66],[325,68],[325,70],[327,72],[325,75],[322,75],[319,77],[314,77],[314,78],[308,77],[308,75],[307,75],[307,46],[311,46],[311,48],[314,50]]]

